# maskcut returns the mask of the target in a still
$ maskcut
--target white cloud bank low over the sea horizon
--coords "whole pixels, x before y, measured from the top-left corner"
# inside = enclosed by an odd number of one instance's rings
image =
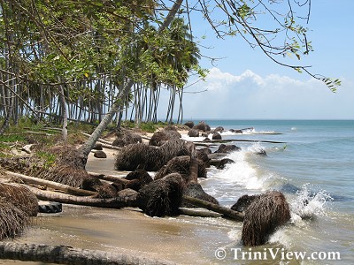
[[[354,86],[343,80],[336,94],[319,80],[296,80],[250,70],[240,75],[212,68],[205,82],[185,94],[184,117],[214,118],[354,118]]]

